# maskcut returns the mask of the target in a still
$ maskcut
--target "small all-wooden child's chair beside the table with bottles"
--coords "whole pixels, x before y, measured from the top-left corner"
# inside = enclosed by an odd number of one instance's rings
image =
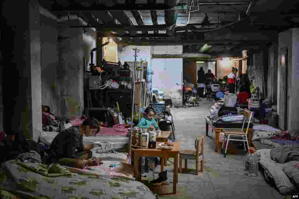
[[[205,135],[201,135],[196,138],[196,149],[186,149],[180,150],[180,162],[179,162],[179,172],[182,172],[182,162],[185,159],[185,169],[188,168],[188,159],[189,160],[196,160],[196,175],[199,175],[199,162],[200,172],[204,171],[204,163],[205,163]]]

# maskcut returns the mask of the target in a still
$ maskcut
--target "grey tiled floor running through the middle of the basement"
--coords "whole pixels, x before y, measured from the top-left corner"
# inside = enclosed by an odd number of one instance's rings
[[[182,140],[181,149],[194,149],[197,135],[205,135],[204,116],[209,114],[213,103],[205,99],[199,107],[172,108],[175,136]],[[180,173],[178,192],[176,195],[160,196],[160,198],[205,198],[205,199],[248,199],[248,198],[289,198],[282,196],[269,186],[262,173],[258,177],[248,177],[244,174],[244,156],[226,156],[214,151],[213,133],[206,138],[206,170],[199,177],[195,175],[195,161],[188,161],[188,173]],[[170,160],[172,161],[172,160]],[[183,163],[184,167],[184,163]],[[173,181],[173,167],[164,167],[169,170],[168,180]],[[157,168],[158,170],[159,168]],[[172,184],[170,184],[172,187]]]

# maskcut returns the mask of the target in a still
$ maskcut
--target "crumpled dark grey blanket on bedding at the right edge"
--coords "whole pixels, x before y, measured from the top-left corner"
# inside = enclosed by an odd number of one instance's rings
[[[293,160],[299,161],[299,145],[283,145],[270,151],[272,160],[278,163],[285,163]]]

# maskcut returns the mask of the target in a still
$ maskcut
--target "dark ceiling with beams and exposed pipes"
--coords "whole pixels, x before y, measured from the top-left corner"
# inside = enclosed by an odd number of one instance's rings
[[[77,14],[103,36],[122,37],[120,45],[181,44],[184,53],[203,53],[207,43],[210,48],[204,53],[215,56],[241,55],[245,48],[267,45],[279,32],[298,27],[298,1],[194,1],[200,8],[190,15],[190,0],[62,0],[41,5],[58,16]],[[209,26],[202,24],[206,15]]]

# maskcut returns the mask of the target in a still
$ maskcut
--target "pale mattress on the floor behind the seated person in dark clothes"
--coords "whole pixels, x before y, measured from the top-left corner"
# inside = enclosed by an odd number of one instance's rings
[[[45,132],[43,131],[39,136],[39,141],[47,146],[50,146],[51,142],[54,140],[56,135],[59,132]],[[105,142],[111,144],[111,148],[109,149],[121,149],[129,144],[129,137],[126,135],[100,135],[97,134],[96,136],[86,137],[83,136],[83,143],[84,144],[92,144],[94,142]]]

